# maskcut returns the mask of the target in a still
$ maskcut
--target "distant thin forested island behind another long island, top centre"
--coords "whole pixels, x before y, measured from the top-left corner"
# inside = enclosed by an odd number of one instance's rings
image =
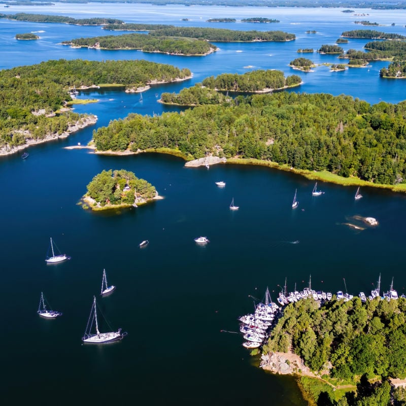
[[[233,41],[291,41],[294,34],[283,31],[237,31],[224,28],[173,27],[150,32],[153,36],[188,37],[198,40],[233,42]]]

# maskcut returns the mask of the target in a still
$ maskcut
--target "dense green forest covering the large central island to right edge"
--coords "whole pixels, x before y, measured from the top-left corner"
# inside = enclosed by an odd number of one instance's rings
[[[238,96],[233,106],[131,114],[93,139],[100,151],[167,147],[193,158],[257,158],[393,185],[406,179],[405,120],[406,103],[279,92]]]

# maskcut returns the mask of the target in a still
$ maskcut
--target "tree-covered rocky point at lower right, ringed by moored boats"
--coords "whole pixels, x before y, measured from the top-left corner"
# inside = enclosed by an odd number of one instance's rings
[[[405,312],[404,298],[362,303],[358,297],[345,301],[334,295],[321,304],[301,299],[284,308],[263,345],[262,359],[274,353],[299,356],[300,362],[294,357],[293,364],[288,362],[314,404],[404,404],[404,388],[391,388],[389,380],[406,378]]]

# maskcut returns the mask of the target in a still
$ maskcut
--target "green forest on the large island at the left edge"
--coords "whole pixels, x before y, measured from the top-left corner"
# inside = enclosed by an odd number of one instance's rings
[[[43,139],[47,134],[60,134],[76,122],[79,115],[72,112],[54,115],[71,100],[70,86],[119,83],[123,87],[137,87],[155,80],[171,82],[189,76],[187,69],[181,71],[144,60],[59,59],[0,71],[0,147],[24,145],[26,138]]]

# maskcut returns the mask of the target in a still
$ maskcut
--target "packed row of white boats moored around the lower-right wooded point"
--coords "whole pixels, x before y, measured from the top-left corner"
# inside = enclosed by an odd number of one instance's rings
[[[346,287],[346,292],[339,290],[336,293],[337,300],[344,300],[348,301],[354,298],[353,295],[347,292],[347,285],[344,279],[344,285]],[[381,274],[379,274],[378,285],[377,288],[371,290],[371,294],[366,296],[364,292],[359,292],[359,297],[363,303],[366,302],[367,299],[374,300],[378,299],[386,299],[386,300],[394,300],[398,299],[397,291],[393,289],[393,278],[390,285],[390,288],[387,292],[383,292],[381,296]],[[293,292],[288,293],[286,290],[286,279],[285,279],[285,286],[284,291],[279,292],[277,301],[283,308],[289,303],[294,303],[300,299],[306,298],[313,298],[314,300],[320,300],[320,302],[326,302],[331,300],[333,295],[331,292],[323,292],[323,291],[315,291],[312,289],[312,276],[309,279],[309,287],[304,288],[300,292],[295,290]],[[406,298],[405,295],[401,295],[400,297]],[[240,332],[244,334],[244,339],[246,340],[243,343],[245,348],[258,348],[262,345],[265,339],[269,336],[269,330],[274,325],[275,321],[278,319],[278,316],[281,314],[281,309],[278,304],[272,301],[270,297],[269,289],[266,288],[265,291],[265,301],[260,302],[255,306],[255,311],[252,314],[247,314],[245,316],[241,316],[239,318],[240,321]]]

